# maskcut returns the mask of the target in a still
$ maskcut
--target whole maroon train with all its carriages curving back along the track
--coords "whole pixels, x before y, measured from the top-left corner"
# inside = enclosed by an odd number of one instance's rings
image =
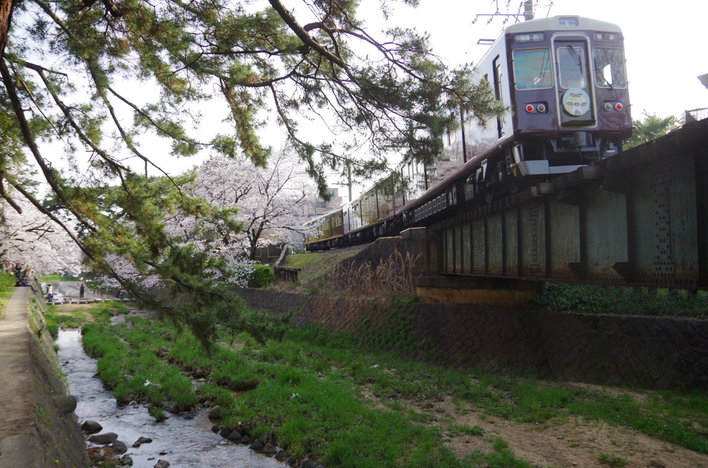
[[[428,226],[619,153],[632,136],[623,40],[617,25],[581,16],[508,26],[476,71],[509,111],[486,126],[465,121],[434,165],[399,167],[406,193],[387,177],[341,209],[338,240],[323,234],[307,248]]]

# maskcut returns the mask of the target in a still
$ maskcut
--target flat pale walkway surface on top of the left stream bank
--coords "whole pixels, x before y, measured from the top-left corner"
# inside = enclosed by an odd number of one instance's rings
[[[33,380],[27,298],[30,288],[15,288],[0,320],[0,468],[39,466],[33,428]]]

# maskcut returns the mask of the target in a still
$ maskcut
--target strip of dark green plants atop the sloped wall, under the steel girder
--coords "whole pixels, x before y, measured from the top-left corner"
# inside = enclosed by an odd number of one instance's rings
[[[603,315],[651,315],[660,317],[708,318],[708,293],[699,291],[688,297],[685,291],[628,286],[598,286],[576,283],[551,283],[532,300],[530,308],[555,312]]]

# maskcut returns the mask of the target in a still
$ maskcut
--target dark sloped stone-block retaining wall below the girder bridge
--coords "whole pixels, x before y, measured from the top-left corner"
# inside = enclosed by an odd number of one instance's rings
[[[389,327],[370,300],[244,289],[254,308],[295,312],[294,323],[332,331]],[[495,374],[646,389],[708,391],[708,321],[570,315],[474,305],[413,303],[416,356]]]

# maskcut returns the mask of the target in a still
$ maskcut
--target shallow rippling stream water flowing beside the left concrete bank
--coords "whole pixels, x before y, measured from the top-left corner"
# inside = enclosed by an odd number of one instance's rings
[[[156,423],[142,405],[118,407],[113,396],[103,388],[96,375],[96,360],[89,358],[81,346],[79,329],[59,331],[59,361],[67,376],[69,392],[76,397],[79,422],[97,421],[101,433],[118,434],[128,447],[134,468],[152,468],[157,460],[167,460],[171,468],[283,468],[287,465],[264,457],[245,445],[228,442],[212,433],[204,411],[194,419],[171,415]],[[152,443],[131,447],[139,437],[152,438]],[[91,445],[91,444],[90,444]],[[160,455],[160,453],[164,455]]]

